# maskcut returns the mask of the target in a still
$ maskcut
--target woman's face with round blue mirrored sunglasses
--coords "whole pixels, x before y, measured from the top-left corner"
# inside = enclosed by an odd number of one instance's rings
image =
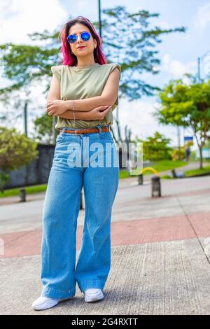
[[[84,41],[81,38],[80,33],[82,33],[83,31],[90,33],[90,29],[80,23],[76,23],[69,29],[69,34],[77,34],[76,41],[74,43],[69,43],[71,51],[73,52],[73,55],[76,55],[76,57],[85,57],[87,55],[90,55],[93,53],[94,48],[97,47],[97,41],[92,38],[91,33],[89,40]],[[84,46],[84,48],[78,48],[80,46]]]

